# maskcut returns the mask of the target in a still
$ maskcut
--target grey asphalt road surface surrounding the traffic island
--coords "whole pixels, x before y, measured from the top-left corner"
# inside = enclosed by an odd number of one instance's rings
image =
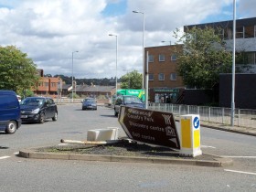
[[[178,124],[177,124],[178,125]],[[81,111],[60,105],[59,120],[22,124],[0,134],[0,191],[256,191],[256,137],[201,127],[203,153],[232,156],[225,168],[111,162],[41,160],[17,157],[24,148],[86,140],[91,129],[119,127],[113,110]]]

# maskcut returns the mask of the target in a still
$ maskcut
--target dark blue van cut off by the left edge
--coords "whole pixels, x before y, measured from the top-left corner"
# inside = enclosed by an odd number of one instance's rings
[[[0,131],[16,133],[20,125],[20,106],[16,92],[0,90]]]

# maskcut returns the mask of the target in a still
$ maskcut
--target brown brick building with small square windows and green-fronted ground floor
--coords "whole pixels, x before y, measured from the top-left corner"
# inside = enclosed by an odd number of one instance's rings
[[[169,45],[145,48],[145,53],[148,52],[150,101],[176,101],[181,90],[184,89],[182,77],[178,76],[176,72],[178,62],[176,55],[177,48],[182,48],[182,46]]]

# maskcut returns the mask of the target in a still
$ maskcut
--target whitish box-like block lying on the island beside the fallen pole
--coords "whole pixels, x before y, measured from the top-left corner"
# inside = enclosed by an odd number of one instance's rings
[[[106,141],[106,140],[117,140],[118,139],[118,128],[108,127],[107,129],[94,129],[88,130],[87,141]]]

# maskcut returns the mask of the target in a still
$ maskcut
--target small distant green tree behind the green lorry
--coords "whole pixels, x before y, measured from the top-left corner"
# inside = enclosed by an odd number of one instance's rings
[[[126,73],[121,77],[122,89],[140,90],[143,86],[143,75],[138,73],[137,70]]]

